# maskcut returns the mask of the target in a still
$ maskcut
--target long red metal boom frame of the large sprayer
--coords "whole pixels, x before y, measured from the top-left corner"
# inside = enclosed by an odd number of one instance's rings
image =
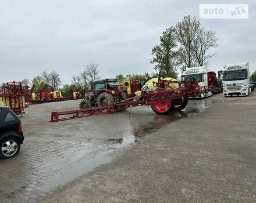
[[[170,83],[179,84],[180,87],[176,89],[164,89],[166,88],[166,84],[164,84],[164,82],[166,81],[161,80],[160,75],[158,82],[155,82],[154,86],[159,86],[162,88],[162,90],[152,92],[148,90],[142,90],[140,96],[134,96],[126,100],[120,100],[106,107],[93,107],[69,111],[52,111],[51,120],[49,122],[66,121],[69,119],[84,118],[93,115],[116,113],[118,111],[126,110],[130,107],[149,106],[151,103],[163,102],[166,100],[198,97],[201,96],[202,93],[207,93],[209,90],[215,88],[214,86],[202,87],[198,85],[198,82],[192,81],[169,81]]]

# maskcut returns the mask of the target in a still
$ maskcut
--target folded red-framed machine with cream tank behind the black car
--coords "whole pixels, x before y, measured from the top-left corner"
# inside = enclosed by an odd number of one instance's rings
[[[9,106],[16,114],[22,114],[29,95],[29,86],[22,82],[6,82],[0,87],[0,106]]]

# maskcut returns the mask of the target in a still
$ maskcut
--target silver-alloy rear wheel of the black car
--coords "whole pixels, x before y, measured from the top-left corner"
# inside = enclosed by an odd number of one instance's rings
[[[15,157],[20,151],[20,142],[13,137],[9,137],[0,143],[0,158]]]

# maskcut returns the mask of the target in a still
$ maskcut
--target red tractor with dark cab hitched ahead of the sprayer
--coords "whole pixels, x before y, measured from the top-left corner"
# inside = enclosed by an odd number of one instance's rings
[[[105,107],[127,98],[126,93],[119,88],[117,79],[100,79],[91,82],[91,92],[79,104],[80,109]]]

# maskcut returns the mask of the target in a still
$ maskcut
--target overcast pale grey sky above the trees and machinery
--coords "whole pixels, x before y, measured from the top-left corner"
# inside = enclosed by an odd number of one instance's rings
[[[255,1],[1,0],[0,82],[57,71],[70,83],[90,63],[101,78],[152,72],[151,49],[165,28],[185,15],[198,19],[200,3],[248,3],[249,19],[201,19],[219,37],[211,70],[248,61],[256,70]],[[214,51],[214,50],[213,50]]]

